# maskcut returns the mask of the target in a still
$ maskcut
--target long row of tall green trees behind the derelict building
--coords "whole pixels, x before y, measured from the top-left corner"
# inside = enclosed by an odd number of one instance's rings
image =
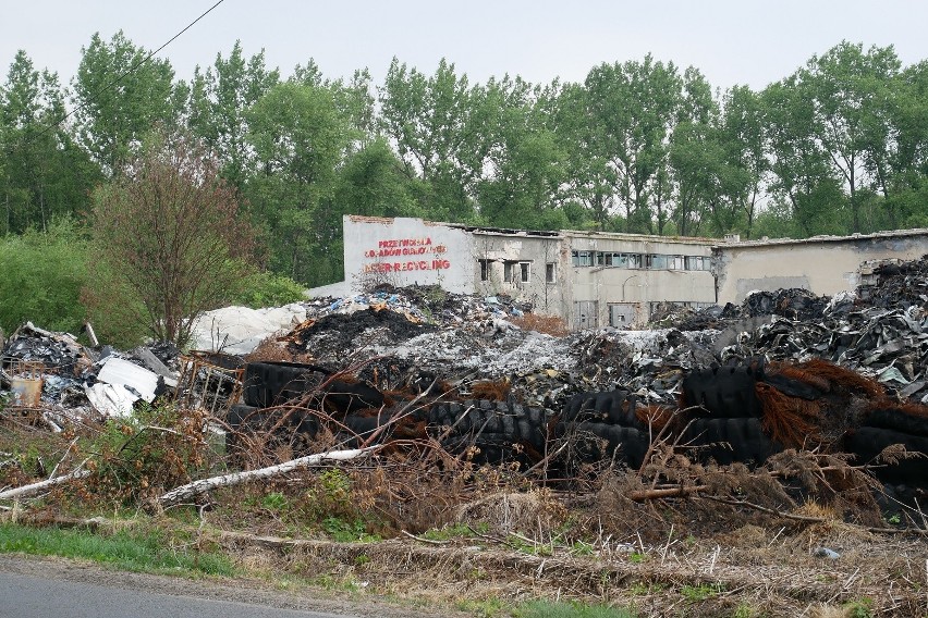
[[[236,42],[190,81],[122,33],[64,86],[25,51],[0,86],[0,234],[88,212],[152,131],[196,139],[265,267],[342,276],[344,213],[742,237],[928,226],[928,62],[842,41],[756,91],[646,55],[582,83],[472,83],[394,59],[289,76]]]

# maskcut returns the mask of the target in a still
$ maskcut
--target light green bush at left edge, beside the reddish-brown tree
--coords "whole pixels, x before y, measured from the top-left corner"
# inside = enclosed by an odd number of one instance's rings
[[[52,222],[47,233],[0,239],[0,327],[9,333],[28,320],[77,333],[87,317],[80,295],[90,256],[84,231],[68,219]]]

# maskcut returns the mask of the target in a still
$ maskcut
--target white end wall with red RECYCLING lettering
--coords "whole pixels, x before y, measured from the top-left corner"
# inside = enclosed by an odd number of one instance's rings
[[[371,284],[439,284],[474,291],[473,237],[422,219],[345,215],[345,281],[355,292]]]

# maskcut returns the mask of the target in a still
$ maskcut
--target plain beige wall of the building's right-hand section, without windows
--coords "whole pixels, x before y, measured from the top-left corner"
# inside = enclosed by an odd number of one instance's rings
[[[738,243],[716,247],[715,254],[719,304],[741,302],[755,289],[786,287],[832,296],[860,283],[865,261],[913,260],[928,254],[928,231]]]

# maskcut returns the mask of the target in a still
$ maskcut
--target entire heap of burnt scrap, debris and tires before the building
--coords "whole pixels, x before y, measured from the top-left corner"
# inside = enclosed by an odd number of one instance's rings
[[[437,287],[303,308],[305,321],[252,357],[181,358],[175,395],[217,416],[232,454],[254,450],[256,436],[291,454],[325,438],[440,445],[522,469],[603,460],[637,469],[659,437],[720,465],[757,465],[786,448],[847,453],[859,465],[882,455],[880,480],[906,495],[928,491],[928,459],[893,446],[928,454],[928,259],[881,267],[854,295],[756,293],[741,307],[664,312],[666,327],[648,331],[552,336],[513,323],[530,308],[506,297]],[[3,354],[44,355],[105,411],[90,392],[106,359],[75,358],[70,342],[42,351],[50,338],[26,330]],[[126,361],[144,366],[157,354],[148,351]],[[142,388],[122,369],[108,384],[136,399],[172,379],[148,367],[161,381]],[[54,401],[51,382],[44,397]]]

